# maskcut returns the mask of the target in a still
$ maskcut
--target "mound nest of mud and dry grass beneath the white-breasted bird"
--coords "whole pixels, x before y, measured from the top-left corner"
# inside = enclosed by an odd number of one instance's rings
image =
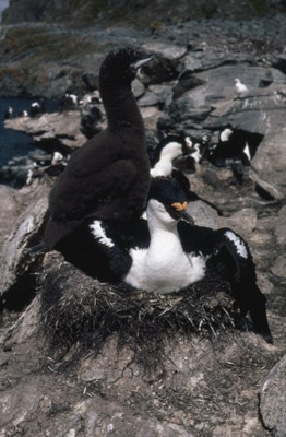
[[[128,344],[144,367],[157,367],[166,340],[179,334],[222,338],[251,323],[236,309],[223,267],[210,268],[202,281],[167,295],[139,292],[122,283],[102,283],[79,271],[57,253],[44,259],[40,275],[41,327],[49,354],[78,361],[96,355],[117,334],[118,347]]]

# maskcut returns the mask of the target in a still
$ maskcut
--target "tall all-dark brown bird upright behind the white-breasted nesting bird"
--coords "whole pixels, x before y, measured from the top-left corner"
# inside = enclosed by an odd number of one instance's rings
[[[107,129],[74,152],[49,197],[45,250],[84,218],[128,221],[140,215],[150,187],[144,123],[132,94],[138,69],[152,60],[132,48],[110,51],[99,71]]]

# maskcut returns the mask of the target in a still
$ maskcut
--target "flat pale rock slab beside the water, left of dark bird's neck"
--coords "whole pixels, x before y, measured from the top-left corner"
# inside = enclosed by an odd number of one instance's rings
[[[68,153],[82,145],[86,139],[80,131],[81,113],[45,114],[36,118],[19,117],[7,120],[5,127],[33,137],[35,144],[48,152]]]

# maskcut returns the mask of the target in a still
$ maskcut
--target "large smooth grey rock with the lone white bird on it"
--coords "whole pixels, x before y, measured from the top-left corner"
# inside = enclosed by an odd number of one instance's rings
[[[184,129],[191,127],[194,121],[205,120],[203,127],[212,130],[230,123],[237,129],[264,134],[271,122],[273,130],[279,130],[285,118],[285,91],[281,88],[266,92],[259,86],[267,80],[269,84],[283,84],[284,74],[275,69],[258,66],[227,64],[226,59],[224,58],[226,64],[221,60],[218,67],[193,74],[190,70],[184,70],[174,87],[174,101],[165,110],[171,115],[175,122],[182,122]],[[235,98],[235,78],[243,80],[253,95],[250,94],[248,99]],[[214,108],[216,109],[213,110]],[[247,117],[245,110],[248,110]],[[269,122],[262,122],[262,117],[270,118]]]

